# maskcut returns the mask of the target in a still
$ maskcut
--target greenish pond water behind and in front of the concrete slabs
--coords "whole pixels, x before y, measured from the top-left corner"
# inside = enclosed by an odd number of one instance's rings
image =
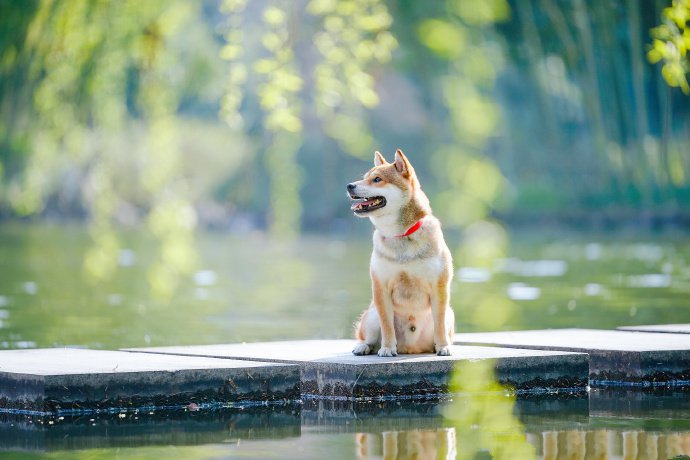
[[[116,271],[94,282],[83,268],[90,246],[83,228],[0,225],[0,348],[349,338],[369,303],[368,236],[286,244],[262,234],[200,233],[197,268],[169,301],[150,293],[156,241],[137,232],[120,238]],[[511,235],[507,251],[488,262],[465,264],[460,251],[456,262],[458,330],[690,322],[685,236]],[[337,459],[491,458],[491,450],[494,458],[519,458],[527,445],[527,458],[672,458],[690,455],[689,400],[684,392],[517,402],[479,394],[405,404],[6,415],[0,451],[12,458]]]

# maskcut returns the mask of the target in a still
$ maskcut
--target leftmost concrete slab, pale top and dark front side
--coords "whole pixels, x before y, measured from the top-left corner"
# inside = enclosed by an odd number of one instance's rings
[[[295,400],[296,366],[120,351],[0,351],[0,410],[70,413]]]

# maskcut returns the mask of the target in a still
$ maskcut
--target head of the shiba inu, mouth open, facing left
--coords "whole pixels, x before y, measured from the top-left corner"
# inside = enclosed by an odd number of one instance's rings
[[[395,152],[393,163],[376,152],[374,167],[362,180],[347,184],[347,193],[353,201],[350,209],[358,217],[399,213],[418,187],[414,169],[402,150]]]

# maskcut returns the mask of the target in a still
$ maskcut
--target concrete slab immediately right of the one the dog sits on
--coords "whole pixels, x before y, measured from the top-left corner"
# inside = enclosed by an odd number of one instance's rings
[[[690,335],[547,329],[456,334],[455,343],[585,352],[592,387],[690,386]]]

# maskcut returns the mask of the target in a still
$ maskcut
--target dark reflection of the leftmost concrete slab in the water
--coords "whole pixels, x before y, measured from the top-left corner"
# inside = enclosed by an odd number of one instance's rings
[[[89,449],[289,439],[300,436],[300,422],[299,407],[293,404],[65,416],[0,413],[0,455],[6,451],[72,452],[66,458],[79,458],[76,453],[83,452],[84,458],[93,458]]]

